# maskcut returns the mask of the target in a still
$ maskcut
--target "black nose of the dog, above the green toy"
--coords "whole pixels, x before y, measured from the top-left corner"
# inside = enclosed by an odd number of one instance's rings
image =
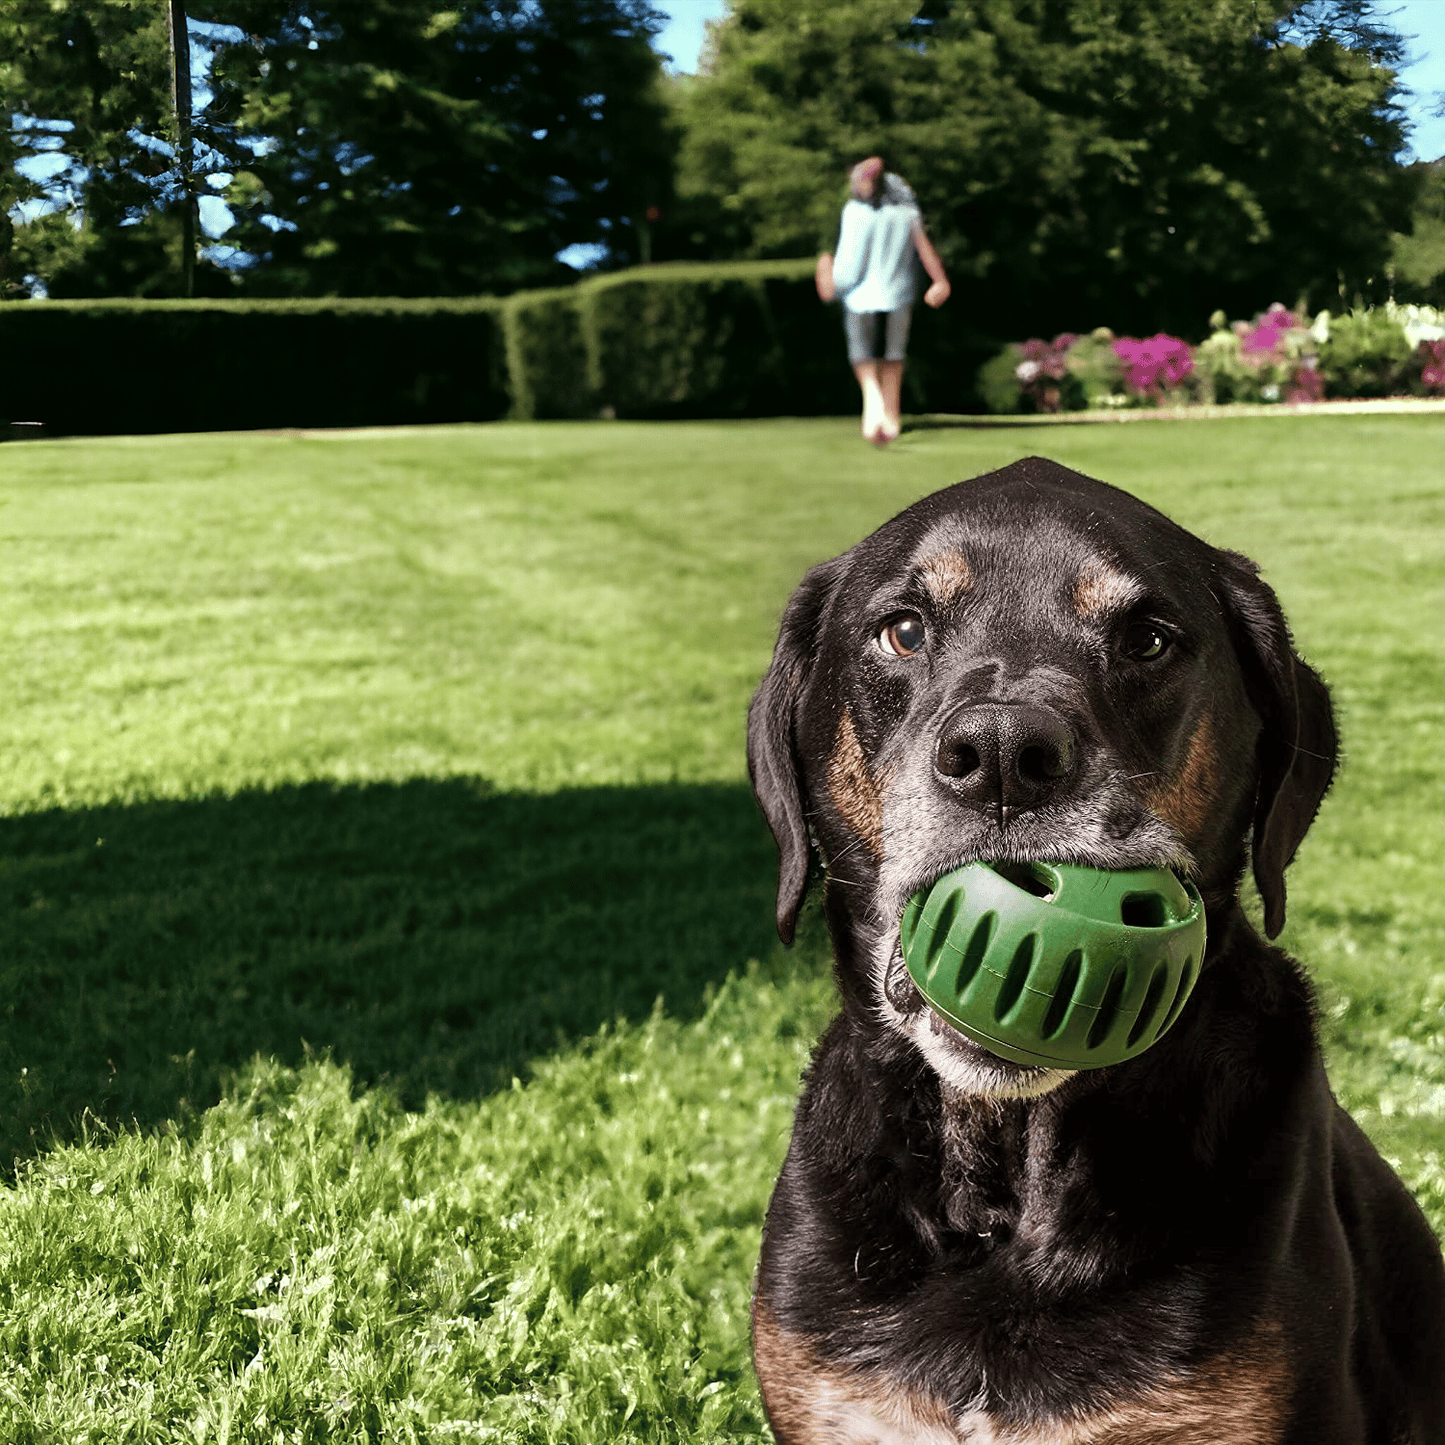
[[[972,704],[942,727],[933,767],[949,792],[1000,822],[1046,802],[1074,772],[1074,731],[1030,704]]]

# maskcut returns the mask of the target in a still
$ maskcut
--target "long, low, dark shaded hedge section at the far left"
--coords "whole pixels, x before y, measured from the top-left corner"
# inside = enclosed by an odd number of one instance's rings
[[[490,298],[0,306],[0,416],[51,435],[491,420],[509,406]]]

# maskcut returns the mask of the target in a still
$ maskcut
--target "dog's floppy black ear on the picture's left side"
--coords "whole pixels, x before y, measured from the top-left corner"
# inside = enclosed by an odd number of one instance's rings
[[[798,764],[798,705],[812,676],[824,608],[841,558],[815,566],[783,613],[773,662],[747,712],[747,772],[777,844],[777,936],[793,941],[808,886],[808,822]]]

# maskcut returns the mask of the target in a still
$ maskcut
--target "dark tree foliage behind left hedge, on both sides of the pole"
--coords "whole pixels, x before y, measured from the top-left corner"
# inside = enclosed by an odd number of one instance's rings
[[[249,262],[234,285],[202,270],[202,292],[536,285],[569,275],[553,256],[574,243],[636,256],[666,192],[646,0],[194,0],[191,17],[214,51],[195,184],[230,205],[225,244]],[[68,204],[17,227],[12,276],[56,296],[175,295],[165,6],[0,0],[0,92],[22,116],[0,144],[69,160]],[[42,191],[17,178],[4,210]]]

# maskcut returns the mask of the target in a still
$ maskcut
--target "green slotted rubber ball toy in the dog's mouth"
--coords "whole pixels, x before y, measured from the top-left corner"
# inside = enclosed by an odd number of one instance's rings
[[[1204,905],[1168,868],[970,863],[903,909],[929,1007],[1014,1064],[1097,1069],[1157,1043],[1204,961]]]

